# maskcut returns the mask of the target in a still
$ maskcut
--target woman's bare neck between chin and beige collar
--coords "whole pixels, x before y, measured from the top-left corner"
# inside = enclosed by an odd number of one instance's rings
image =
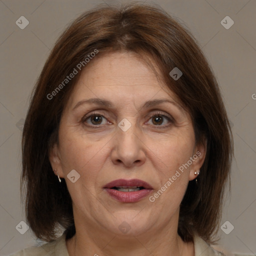
[[[84,220],[84,219],[83,219]],[[70,256],[194,255],[193,243],[184,243],[177,234],[177,216],[164,226],[138,235],[120,235],[84,221],[75,223],[75,235],[66,241]]]

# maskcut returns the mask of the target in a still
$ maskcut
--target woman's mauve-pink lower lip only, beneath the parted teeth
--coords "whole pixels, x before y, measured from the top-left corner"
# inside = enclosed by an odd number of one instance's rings
[[[105,188],[108,194],[117,201],[120,202],[136,202],[146,197],[152,189],[140,189],[138,191],[123,192],[112,188]]]

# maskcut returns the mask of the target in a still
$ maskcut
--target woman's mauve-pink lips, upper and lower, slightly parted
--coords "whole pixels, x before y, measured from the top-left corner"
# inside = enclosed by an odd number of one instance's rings
[[[123,192],[113,189],[114,186],[143,186],[143,189],[132,192]],[[152,187],[145,181],[140,179],[116,179],[104,186],[104,189],[108,194],[117,201],[120,202],[136,202],[147,196],[151,191]]]

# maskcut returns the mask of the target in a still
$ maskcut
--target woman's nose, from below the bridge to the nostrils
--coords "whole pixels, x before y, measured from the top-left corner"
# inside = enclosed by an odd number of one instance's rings
[[[111,160],[114,164],[135,167],[145,162],[145,144],[135,124],[126,131],[118,128],[113,141]]]

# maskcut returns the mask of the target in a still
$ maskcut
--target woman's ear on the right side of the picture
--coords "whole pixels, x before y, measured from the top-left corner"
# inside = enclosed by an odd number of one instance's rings
[[[192,156],[192,164],[190,166],[189,180],[193,180],[197,177],[198,174],[194,174],[194,172],[200,172],[200,168],[204,162],[207,148],[207,139],[204,138],[203,142],[198,143],[193,152]]]

